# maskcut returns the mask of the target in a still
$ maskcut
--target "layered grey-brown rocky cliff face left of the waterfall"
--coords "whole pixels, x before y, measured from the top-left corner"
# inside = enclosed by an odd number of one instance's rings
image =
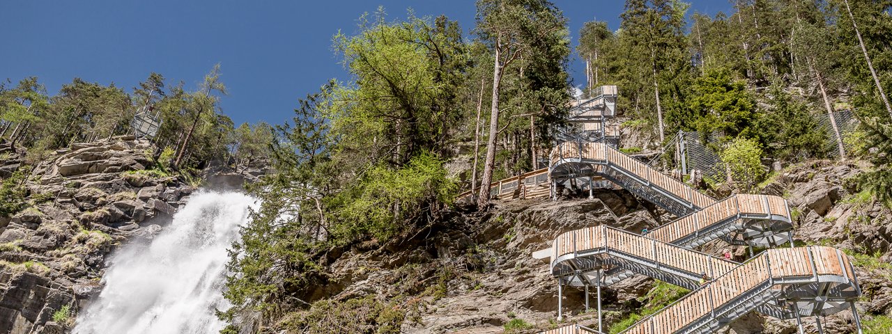
[[[23,166],[0,145],[0,177]],[[29,208],[0,217],[0,333],[62,333],[102,287],[105,259],[129,240],[150,240],[195,188],[145,170],[152,147],[120,136],[76,143],[24,181]]]

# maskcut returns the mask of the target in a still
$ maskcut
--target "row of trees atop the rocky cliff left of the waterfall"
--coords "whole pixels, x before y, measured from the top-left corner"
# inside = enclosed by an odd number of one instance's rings
[[[138,112],[159,114],[161,128],[153,138],[156,158],[189,174],[211,160],[234,159],[239,165],[267,157],[273,128],[265,123],[242,124],[219,109],[226,86],[219,65],[201,85],[189,90],[152,73],[128,93],[123,87],[103,86],[75,77],[57,94],[46,92],[39,77],[17,84],[0,83],[0,139],[28,151],[26,164],[36,165],[53,151],[71,143],[95,143],[120,134],[133,134]]]

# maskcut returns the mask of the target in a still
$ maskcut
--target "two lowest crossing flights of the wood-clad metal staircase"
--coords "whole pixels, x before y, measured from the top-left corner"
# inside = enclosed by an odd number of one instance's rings
[[[836,248],[770,249],[738,264],[602,225],[563,233],[549,251],[561,285],[599,285],[604,276],[593,270],[622,267],[693,289],[629,333],[712,332],[754,310],[781,319],[833,314],[861,295]],[[698,286],[702,273],[716,278]]]

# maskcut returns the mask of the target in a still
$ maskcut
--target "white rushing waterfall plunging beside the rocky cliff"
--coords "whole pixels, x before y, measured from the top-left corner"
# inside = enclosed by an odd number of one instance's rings
[[[148,246],[111,258],[105,287],[81,312],[76,334],[216,333],[225,323],[227,248],[256,200],[235,192],[194,194]]]

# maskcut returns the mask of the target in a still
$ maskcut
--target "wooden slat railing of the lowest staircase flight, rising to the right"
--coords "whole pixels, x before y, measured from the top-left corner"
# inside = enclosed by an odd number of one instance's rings
[[[849,284],[854,284],[855,274],[852,271],[847,256],[836,248],[768,249],[656,314],[642,319],[623,333],[673,333],[702,317],[711,316],[712,312],[721,310],[737,297],[764,285],[787,284],[789,280],[817,281],[817,275],[845,277]]]

